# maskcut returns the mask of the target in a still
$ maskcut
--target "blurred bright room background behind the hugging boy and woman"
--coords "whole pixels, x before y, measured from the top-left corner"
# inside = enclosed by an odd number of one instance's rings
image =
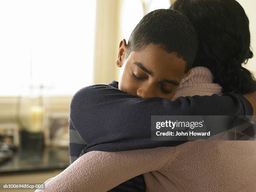
[[[0,0],[0,183],[41,183],[69,165],[72,96],[118,81],[120,40],[174,1]],[[238,2],[255,50],[256,1]],[[246,68],[256,75],[255,62]]]

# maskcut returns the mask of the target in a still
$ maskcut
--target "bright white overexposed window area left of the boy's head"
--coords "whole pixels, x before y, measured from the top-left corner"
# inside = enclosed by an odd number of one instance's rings
[[[0,96],[39,86],[74,95],[92,84],[95,14],[96,0],[1,0]]]

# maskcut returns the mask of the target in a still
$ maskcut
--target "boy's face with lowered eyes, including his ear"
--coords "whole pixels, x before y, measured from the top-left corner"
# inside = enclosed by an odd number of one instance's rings
[[[121,67],[118,89],[137,97],[162,97],[171,100],[184,74],[186,61],[175,53],[167,53],[159,45],[149,44],[125,59],[127,44],[120,42],[118,60]]]

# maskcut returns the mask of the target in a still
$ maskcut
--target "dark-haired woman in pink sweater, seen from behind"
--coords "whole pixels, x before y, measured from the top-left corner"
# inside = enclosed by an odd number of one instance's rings
[[[243,8],[235,0],[177,0],[172,8],[192,21],[200,44],[195,68],[174,98],[221,94],[221,88],[254,92],[255,79],[242,67],[252,57]],[[135,151],[91,151],[46,182],[46,191],[106,191],[139,174],[144,174],[147,191],[256,191],[255,173],[253,141],[194,141]]]

